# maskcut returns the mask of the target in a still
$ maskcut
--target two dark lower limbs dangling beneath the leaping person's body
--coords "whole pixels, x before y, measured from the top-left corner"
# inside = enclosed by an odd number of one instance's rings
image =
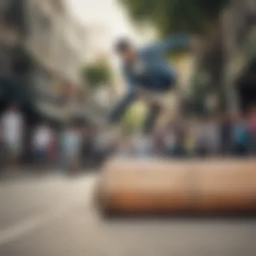
[[[113,112],[110,113],[109,121],[110,123],[118,123],[123,115],[125,115],[127,109],[131,104],[137,100],[137,95],[135,93],[129,93],[127,94],[121,102],[115,106],[113,109]],[[161,112],[161,107],[154,104],[150,106],[150,110],[148,113],[148,116],[146,117],[146,121],[143,125],[143,132],[144,133],[151,133],[154,129],[154,125],[156,123],[156,119],[158,118],[158,115]]]

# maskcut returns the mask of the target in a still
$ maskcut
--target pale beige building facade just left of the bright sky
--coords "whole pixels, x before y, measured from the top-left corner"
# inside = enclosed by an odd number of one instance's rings
[[[50,96],[65,94],[70,108],[79,87],[85,61],[84,26],[71,18],[63,1],[27,0],[29,34],[26,46],[38,60],[34,84]],[[50,105],[41,102],[46,108]],[[67,113],[67,108],[61,109]],[[53,111],[51,111],[52,113]]]

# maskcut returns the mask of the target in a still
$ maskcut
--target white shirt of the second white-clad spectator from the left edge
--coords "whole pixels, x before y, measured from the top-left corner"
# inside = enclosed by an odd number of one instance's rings
[[[34,131],[33,144],[35,148],[47,148],[52,139],[51,130],[48,127],[37,127]]]

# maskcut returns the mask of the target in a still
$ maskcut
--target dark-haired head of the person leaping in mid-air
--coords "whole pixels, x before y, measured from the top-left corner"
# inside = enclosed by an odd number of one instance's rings
[[[133,62],[137,57],[137,51],[133,43],[126,39],[121,38],[115,44],[115,52],[125,62]]]

